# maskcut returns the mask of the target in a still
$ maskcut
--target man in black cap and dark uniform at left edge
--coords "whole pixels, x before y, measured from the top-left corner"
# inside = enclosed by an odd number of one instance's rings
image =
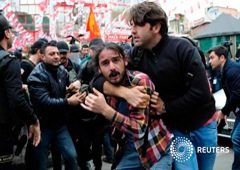
[[[8,53],[12,47],[11,26],[0,14],[0,169],[11,169],[13,159],[11,115],[17,114],[30,126],[29,137],[33,144],[40,142],[40,127],[37,117],[27,104],[22,91],[20,66]]]

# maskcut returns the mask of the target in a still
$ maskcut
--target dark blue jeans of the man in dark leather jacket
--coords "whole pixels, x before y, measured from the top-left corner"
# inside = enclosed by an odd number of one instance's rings
[[[65,125],[56,129],[41,128],[41,142],[34,149],[34,169],[45,170],[50,146],[54,147],[65,161],[67,170],[77,170],[77,153]]]

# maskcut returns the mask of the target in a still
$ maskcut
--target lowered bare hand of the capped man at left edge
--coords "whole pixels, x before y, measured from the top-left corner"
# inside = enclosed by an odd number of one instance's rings
[[[39,120],[37,120],[37,122],[35,124],[30,125],[28,137],[29,138],[33,137],[33,145],[35,147],[37,147],[41,140],[41,131],[40,131]]]

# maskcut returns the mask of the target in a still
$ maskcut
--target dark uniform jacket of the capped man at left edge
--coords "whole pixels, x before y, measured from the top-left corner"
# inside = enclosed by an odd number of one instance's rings
[[[37,121],[24,99],[19,62],[8,55],[0,59],[0,124],[11,123],[13,113],[28,125]]]

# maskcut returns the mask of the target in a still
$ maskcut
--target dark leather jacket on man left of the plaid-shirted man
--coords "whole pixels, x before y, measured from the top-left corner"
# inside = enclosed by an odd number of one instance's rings
[[[52,68],[43,62],[29,75],[30,99],[41,127],[54,128],[65,123],[68,111],[65,97],[67,82],[68,74],[63,66]]]

